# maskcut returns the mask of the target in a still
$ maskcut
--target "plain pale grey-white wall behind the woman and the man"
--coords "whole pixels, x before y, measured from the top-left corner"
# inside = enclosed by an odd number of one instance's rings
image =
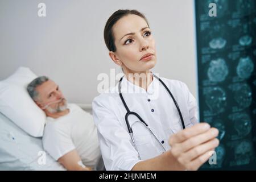
[[[38,17],[38,3],[47,16]],[[120,69],[103,39],[106,20],[118,9],[137,9],[150,23],[161,77],[185,82],[197,96],[193,0],[0,0],[0,80],[18,67],[56,81],[70,102],[90,104],[99,73]]]

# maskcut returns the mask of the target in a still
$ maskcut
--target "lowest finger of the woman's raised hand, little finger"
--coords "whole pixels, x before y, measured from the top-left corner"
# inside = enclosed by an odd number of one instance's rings
[[[195,171],[195,170],[199,169],[200,166],[202,166],[205,162],[207,162],[207,160],[210,158],[210,156],[212,156],[211,151],[213,151],[213,150],[214,150],[214,148],[205,152],[203,155],[200,155],[195,160],[192,160],[192,162],[187,163],[185,165],[185,168],[189,171]]]

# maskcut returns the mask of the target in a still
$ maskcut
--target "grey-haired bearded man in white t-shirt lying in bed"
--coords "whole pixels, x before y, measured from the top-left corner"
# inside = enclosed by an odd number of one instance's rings
[[[27,91],[47,115],[44,150],[68,170],[96,169],[101,154],[92,115],[67,104],[59,86],[48,77],[35,78]]]

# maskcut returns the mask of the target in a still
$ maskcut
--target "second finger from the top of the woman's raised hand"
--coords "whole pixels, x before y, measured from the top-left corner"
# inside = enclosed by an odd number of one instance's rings
[[[174,156],[179,156],[180,154],[187,152],[191,148],[199,146],[202,143],[207,142],[218,136],[218,130],[215,128],[211,128],[208,131],[205,131],[203,134],[199,134],[195,137],[189,138],[182,143],[175,143],[171,147],[172,154]]]

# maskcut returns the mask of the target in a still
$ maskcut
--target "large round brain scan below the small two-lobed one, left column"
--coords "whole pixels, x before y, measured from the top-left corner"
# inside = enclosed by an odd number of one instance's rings
[[[209,69],[207,75],[210,81],[221,82],[224,81],[228,75],[228,66],[224,59],[216,59],[210,61]]]

